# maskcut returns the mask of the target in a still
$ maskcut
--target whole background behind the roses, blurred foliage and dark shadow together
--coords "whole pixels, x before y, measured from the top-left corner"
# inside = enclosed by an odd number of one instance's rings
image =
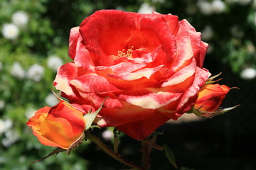
[[[213,74],[223,72],[224,79],[220,83],[240,87],[240,91],[230,92],[224,106],[238,103],[241,106],[213,120],[166,124],[160,128],[164,135],[159,142],[169,144],[180,166],[255,169],[255,154],[251,152],[255,145],[250,140],[256,133],[253,106],[256,90],[255,0],[0,0],[0,167],[124,168],[90,143],[82,145],[70,157],[61,153],[43,162],[28,163],[53,149],[38,142],[26,127],[26,121],[38,108],[54,106],[56,102],[50,89],[53,89],[56,68],[71,61],[68,57],[70,28],[79,26],[84,18],[103,8],[172,13],[180,19],[186,18],[201,31],[203,40],[210,44],[205,67]],[[16,23],[18,33],[14,36],[11,32],[14,38],[6,38],[4,27],[7,23],[15,25],[14,13],[18,11],[26,13],[28,22],[23,26]],[[251,72],[245,74],[248,68]],[[103,131],[95,130],[95,133],[100,136]],[[122,154],[140,159],[137,155],[139,142],[122,137],[122,144]],[[154,152],[151,159],[154,160],[152,169],[173,168],[163,153]]]

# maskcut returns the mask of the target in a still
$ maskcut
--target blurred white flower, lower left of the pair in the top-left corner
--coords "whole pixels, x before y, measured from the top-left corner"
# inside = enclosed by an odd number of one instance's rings
[[[16,38],[18,38],[18,32],[18,27],[13,23],[4,23],[4,26],[2,28],[4,38],[9,40],[15,40]]]

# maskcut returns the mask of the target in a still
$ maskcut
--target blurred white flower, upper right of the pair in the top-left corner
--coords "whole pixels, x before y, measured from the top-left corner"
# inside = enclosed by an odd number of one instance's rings
[[[11,16],[11,21],[18,27],[23,28],[28,23],[28,14],[24,11],[17,11]]]

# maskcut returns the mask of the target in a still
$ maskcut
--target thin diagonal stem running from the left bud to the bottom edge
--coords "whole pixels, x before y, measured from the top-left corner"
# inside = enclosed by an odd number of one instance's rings
[[[133,169],[142,170],[142,167],[137,166],[137,165],[133,164],[132,162],[128,162],[126,159],[123,159],[120,154],[114,153],[114,151],[112,149],[110,149],[109,147],[107,147],[107,145],[105,145],[99,138],[95,137],[95,135],[92,135],[89,132],[89,130],[85,131],[85,138],[87,140],[91,140],[92,142],[95,142],[95,144],[98,147],[100,147],[100,149],[102,149],[105,153],[107,153],[113,159],[116,159],[117,161],[119,161],[127,166],[130,166]]]

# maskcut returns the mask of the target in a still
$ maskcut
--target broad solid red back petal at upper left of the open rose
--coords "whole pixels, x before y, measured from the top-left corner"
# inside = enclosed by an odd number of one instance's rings
[[[125,21],[125,22],[123,22]],[[111,55],[126,48],[136,26],[128,13],[115,10],[96,11],[80,25],[80,33],[90,52],[100,55],[97,65],[112,65]]]

